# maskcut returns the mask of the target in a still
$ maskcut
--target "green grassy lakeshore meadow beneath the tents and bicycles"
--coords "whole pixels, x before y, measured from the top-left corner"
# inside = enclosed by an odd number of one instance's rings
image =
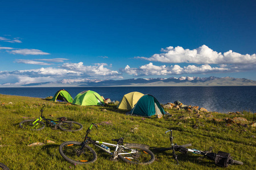
[[[52,130],[48,126],[40,131],[20,129],[19,122],[37,118],[43,104],[46,105],[44,116],[50,117],[51,115],[54,119],[65,116],[68,120],[80,122],[84,129],[74,133]],[[216,123],[212,117],[207,116],[209,113],[201,113],[203,118],[197,118],[195,113],[167,111],[172,116],[161,119],[142,118],[126,115],[125,111],[117,110],[114,105],[80,107],[52,103],[49,100],[34,97],[0,95],[0,162],[10,169],[224,169],[216,167],[211,160],[199,160],[197,158],[200,156],[192,153],[177,152],[180,165],[176,165],[171,151],[158,152],[158,148],[170,146],[168,134],[164,132],[172,129],[174,143],[178,145],[192,143],[191,148],[199,150],[208,150],[212,146],[214,152],[230,152],[235,160],[244,163],[243,165],[230,165],[228,169],[256,168],[255,128],[237,124],[226,126],[224,121]],[[243,112],[242,116],[210,114],[218,119],[244,117],[249,122],[256,121],[255,113]],[[189,116],[190,119],[181,120],[180,116]],[[97,130],[92,129],[90,133],[92,139],[112,143],[111,139],[123,137],[125,142],[150,145],[150,150],[156,157],[155,162],[150,165],[127,164],[121,160],[112,162],[108,154],[90,145],[98,156],[95,163],[88,165],[68,163],[59,154],[59,145],[65,141],[81,142],[86,129],[92,122],[99,125]],[[134,132],[134,128],[138,128],[138,131]],[[46,143],[48,139],[55,143],[27,146],[34,142]]]

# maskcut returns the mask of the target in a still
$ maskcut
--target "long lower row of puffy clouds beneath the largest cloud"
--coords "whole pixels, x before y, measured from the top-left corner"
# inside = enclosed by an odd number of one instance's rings
[[[230,68],[225,67],[212,67],[210,65],[188,65],[180,67],[179,65],[174,66],[155,66],[153,63],[148,63],[147,65],[140,66],[138,68],[131,68],[129,65],[125,69],[121,70],[122,73],[142,76],[142,75],[176,75],[176,74],[205,74],[205,73],[220,73],[232,71]]]

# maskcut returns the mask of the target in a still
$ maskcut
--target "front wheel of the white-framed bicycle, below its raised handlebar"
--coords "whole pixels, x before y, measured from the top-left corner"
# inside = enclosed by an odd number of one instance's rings
[[[81,147],[81,142],[68,141],[61,143],[59,152],[65,160],[73,164],[88,164],[95,162],[97,159],[96,152],[88,145],[84,145],[83,148]]]

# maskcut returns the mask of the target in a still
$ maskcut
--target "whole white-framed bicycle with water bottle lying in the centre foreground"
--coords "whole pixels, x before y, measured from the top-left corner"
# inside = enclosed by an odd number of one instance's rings
[[[93,148],[88,146],[89,143],[92,143],[94,146],[97,146],[98,148],[101,148],[101,150],[112,155],[110,159],[113,161],[121,159],[124,162],[131,164],[151,164],[154,162],[155,155],[148,150],[149,146],[147,145],[123,143],[123,138],[112,139],[112,141],[117,142],[117,145],[92,140],[88,135],[93,126],[97,129],[95,124],[90,125],[86,130],[83,142],[68,141],[60,145],[59,152],[65,160],[73,164],[88,164],[95,162],[97,154]],[[107,146],[115,147],[115,150],[111,152],[110,148]]]

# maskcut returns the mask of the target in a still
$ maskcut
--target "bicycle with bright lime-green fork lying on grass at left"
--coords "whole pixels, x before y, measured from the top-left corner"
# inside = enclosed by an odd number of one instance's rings
[[[44,107],[46,105],[43,105],[41,108],[41,116],[37,118],[36,120],[23,120],[19,123],[20,128],[23,129],[29,129],[29,130],[42,130],[46,127],[46,124],[50,125],[53,130],[56,130],[57,128],[63,130],[63,131],[79,131],[82,130],[82,124],[75,121],[67,121],[67,118],[65,117],[59,117],[58,120],[52,120],[51,118],[46,118],[43,116]],[[44,124],[44,122],[46,124]]]

